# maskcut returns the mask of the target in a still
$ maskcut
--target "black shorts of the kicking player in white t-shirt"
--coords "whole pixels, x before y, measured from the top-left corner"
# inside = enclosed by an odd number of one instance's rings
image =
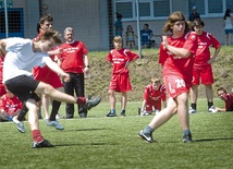
[[[39,101],[40,98],[34,93],[38,84],[39,81],[26,75],[13,77],[4,83],[7,88],[24,104],[29,98]]]

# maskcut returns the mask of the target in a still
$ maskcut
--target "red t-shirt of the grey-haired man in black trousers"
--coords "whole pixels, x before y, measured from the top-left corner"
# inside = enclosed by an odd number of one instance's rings
[[[61,60],[61,69],[69,73],[83,73],[84,59],[87,55],[87,49],[82,41],[74,41],[72,44],[64,43],[59,48],[63,49],[62,53],[58,56]]]

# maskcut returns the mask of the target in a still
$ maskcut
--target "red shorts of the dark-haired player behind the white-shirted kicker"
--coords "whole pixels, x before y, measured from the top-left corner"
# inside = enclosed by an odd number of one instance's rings
[[[52,72],[47,65],[44,68],[35,68],[33,70],[34,79],[50,84],[54,88],[63,87],[59,75]]]

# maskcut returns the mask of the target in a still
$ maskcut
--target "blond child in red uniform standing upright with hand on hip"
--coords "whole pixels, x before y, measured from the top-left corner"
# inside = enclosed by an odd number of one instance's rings
[[[132,61],[138,59],[138,55],[131,52],[123,47],[123,39],[121,36],[115,36],[113,38],[114,49],[112,49],[108,57],[107,61],[112,64],[112,79],[110,81],[109,86],[109,99],[111,105],[111,110],[107,114],[107,117],[115,117],[115,92],[122,94],[122,101],[121,101],[121,116],[125,117],[125,108],[127,102],[127,95],[126,93],[132,90],[130,75],[128,75],[128,64]]]

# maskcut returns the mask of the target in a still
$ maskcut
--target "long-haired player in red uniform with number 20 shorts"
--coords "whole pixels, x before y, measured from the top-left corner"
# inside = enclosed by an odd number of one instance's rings
[[[174,12],[169,16],[163,32],[171,33],[168,37],[163,36],[159,56],[169,98],[167,107],[155,116],[138,135],[146,142],[154,143],[152,132],[177,113],[183,130],[183,142],[192,142],[187,102],[194,55],[197,49],[196,34],[188,34],[189,26],[181,12]]]

